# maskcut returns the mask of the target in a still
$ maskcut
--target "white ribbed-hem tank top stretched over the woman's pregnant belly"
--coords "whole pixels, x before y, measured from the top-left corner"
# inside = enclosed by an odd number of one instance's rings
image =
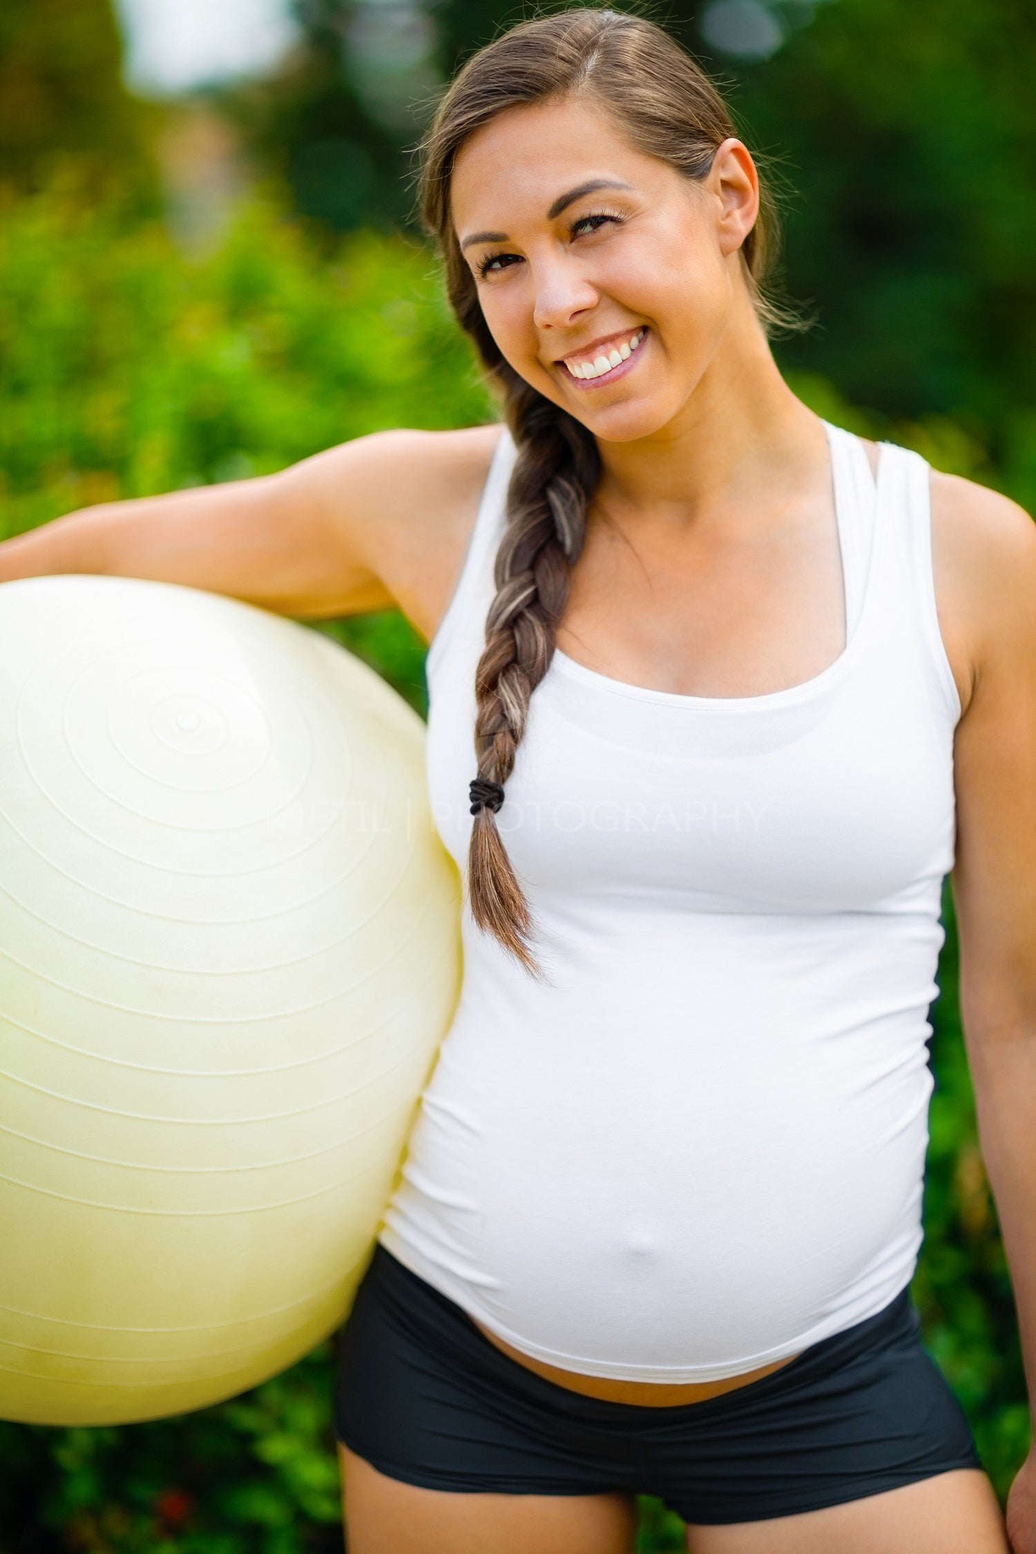
[[[555,653],[497,816],[533,981],[464,912],[460,1004],[384,1245],[520,1352],[708,1382],[910,1280],[960,701],[927,465],[828,427],[847,646],[763,696]],[[427,662],[427,763],[466,869],[475,664],[514,448]],[[876,488],[874,488],[876,486]]]

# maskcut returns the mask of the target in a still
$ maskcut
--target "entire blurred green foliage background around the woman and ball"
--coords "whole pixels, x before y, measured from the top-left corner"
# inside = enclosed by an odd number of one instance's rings
[[[778,347],[781,365],[829,420],[1036,508],[1028,0],[761,3],[784,37],[772,59],[710,57],[704,6],[674,3],[669,23],[725,78],[784,190],[787,287],[819,326]],[[408,225],[418,120],[379,115],[356,87],[362,0],[297,9],[304,42],[280,75],[207,98],[267,193],[202,260],[162,224],[163,113],[120,84],[107,0],[5,5],[0,538],[381,427],[492,416]],[[519,14],[514,0],[427,9],[441,73]],[[309,625],[424,709],[424,646],[398,614]],[[1030,1423],[949,890],[944,920],[915,1299],[1005,1495]],[[325,1344],[247,1397],[154,1425],[0,1423],[0,1554],[340,1554],[332,1368]],[[641,1554],[683,1546],[677,1518],[651,1500],[641,1512]]]

